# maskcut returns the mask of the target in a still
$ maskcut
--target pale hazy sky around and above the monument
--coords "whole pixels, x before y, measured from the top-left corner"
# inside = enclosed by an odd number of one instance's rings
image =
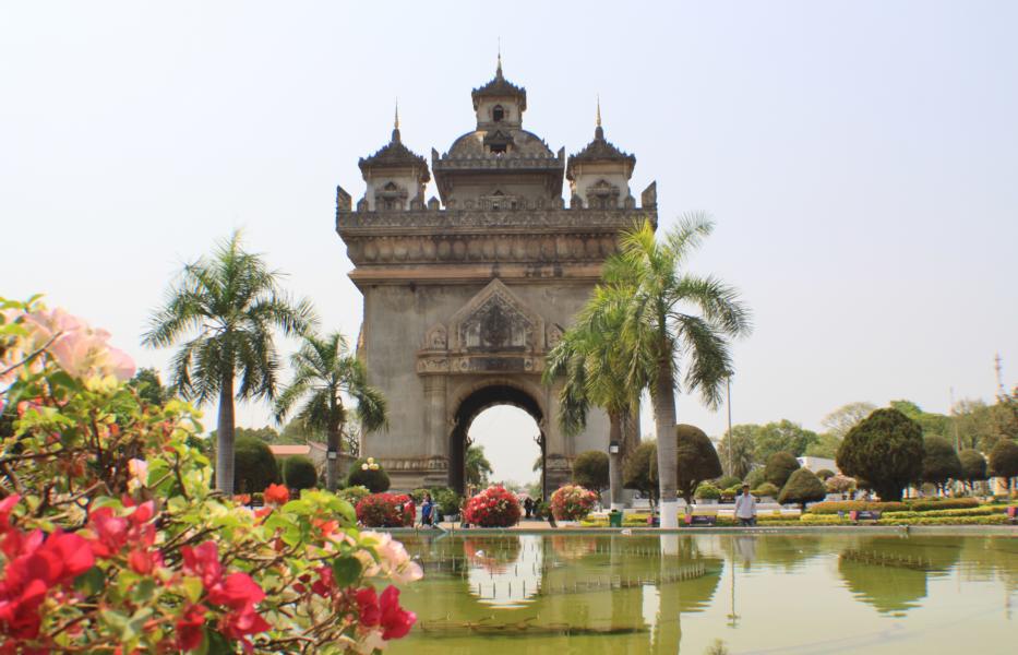
[[[715,215],[694,269],[755,312],[735,422],[816,429],[898,397],[947,412],[951,389],[993,395],[995,353],[1018,379],[1016,25],[1006,0],[4,2],[0,295],[46,293],[163,367],[139,345],[149,311],[243,227],[324,327],[356,335],[335,186],[363,192],[357,159],[396,96],[422,155],[471,129],[501,36],[528,129],[577,152],[600,94],[662,227]],[[679,410],[723,430],[696,398]],[[475,426],[520,480],[534,431],[508,408]]]

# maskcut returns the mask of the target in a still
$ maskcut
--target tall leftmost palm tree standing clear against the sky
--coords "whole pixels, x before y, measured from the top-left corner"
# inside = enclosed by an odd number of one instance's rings
[[[218,395],[216,488],[225,493],[233,491],[235,396],[272,400],[279,369],[273,330],[289,336],[314,322],[310,302],[290,299],[278,278],[233,233],[211,258],[184,266],[142,337],[160,348],[183,342],[172,358],[172,377],[184,398],[203,405]]]

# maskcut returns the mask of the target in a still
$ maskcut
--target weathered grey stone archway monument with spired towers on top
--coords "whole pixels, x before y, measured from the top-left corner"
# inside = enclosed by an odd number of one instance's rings
[[[362,436],[393,487],[463,488],[469,424],[494,405],[534,417],[544,443],[547,485],[568,479],[573,458],[608,449],[608,419],[559,428],[555,388],[541,384],[559,342],[615,251],[621,230],[657,224],[651,183],[637,207],[635,157],[595,138],[566,162],[523,129],[526,91],[502,75],[475,88],[476,129],[431,168],[400,140],[360,160],[367,190],[354,206],[337,189],[336,230],[363,294],[358,355],[385,393],[390,427]],[[434,175],[438,198],[424,202]],[[563,176],[570,181],[563,201]],[[638,428],[636,428],[638,430]],[[637,431],[638,436],[638,431]],[[536,434],[511,434],[520,445]]]

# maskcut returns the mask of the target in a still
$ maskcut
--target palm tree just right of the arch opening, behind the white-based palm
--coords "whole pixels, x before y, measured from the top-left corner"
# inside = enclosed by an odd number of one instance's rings
[[[566,434],[576,434],[587,424],[589,406],[608,414],[609,443],[622,445],[623,425],[637,412],[642,384],[626,380],[625,360],[616,347],[624,314],[619,305],[606,302],[604,290],[595,288],[594,296],[580,311],[576,323],[548,354],[543,381],[562,380],[559,392],[559,419]],[[609,452],[609,486],[611,503],[622,504],[622,458],[627,452]]]

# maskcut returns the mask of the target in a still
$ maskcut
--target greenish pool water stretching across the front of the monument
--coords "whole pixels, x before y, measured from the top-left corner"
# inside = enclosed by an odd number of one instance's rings
[[[390,653],[1018,653],[1018,537],[402,538],[424,569]]]

